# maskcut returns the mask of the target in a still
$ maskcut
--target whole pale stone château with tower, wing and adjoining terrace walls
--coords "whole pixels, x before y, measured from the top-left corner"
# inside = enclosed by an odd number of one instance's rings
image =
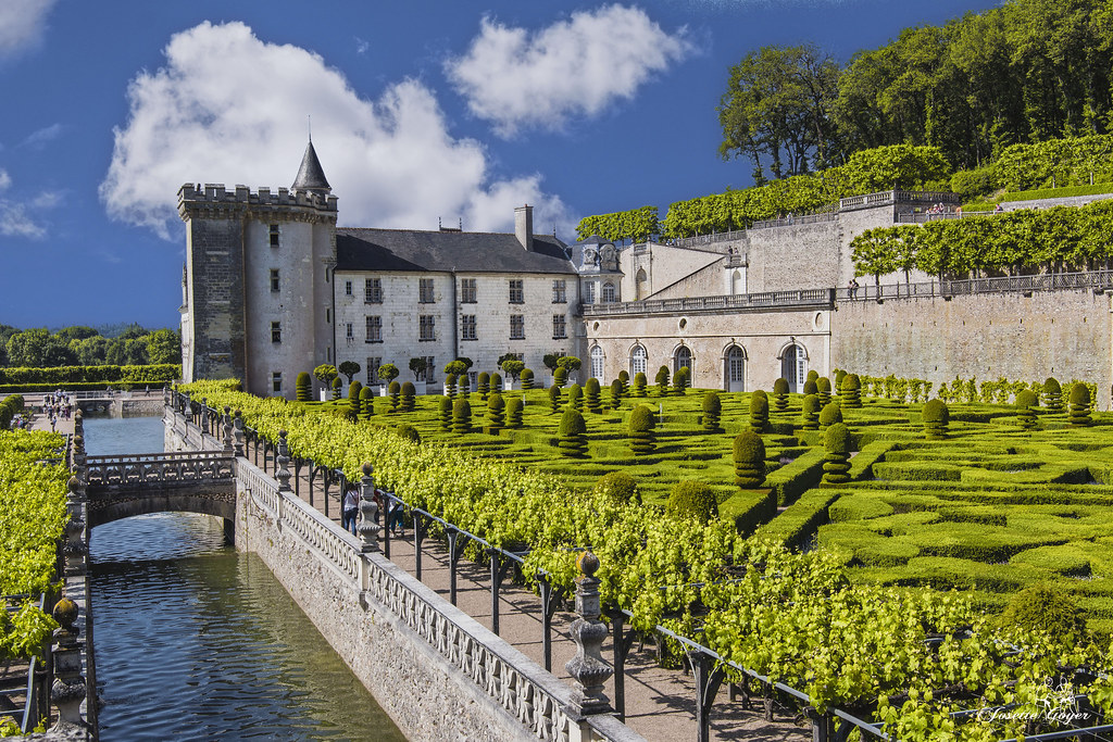
[[[417,380],[439,385],[456,357],[475,374],[514,354],[548,384],[543,356],[565,354],[582,359],[581,382],[603,384],[621,370],[652,380],[660,366],[727,390],[770,389],[778,377],[800,390],[811,369],[936,385],[1054,375],[1096,382],[1107,406],[1104,289],[915,273],[848,288],[857,235],[934,218],[927,207],[954,198],[871,194],[745,231],[632,246],[534,234],[529,206],[515,209],[513,234],[337,227],[309,142],[288,189],[178,191],[183,375],[293,397],[294,377],[319,364],[353,360],[373,384],[382,364],[405,379],[410,359],[424,358]]]

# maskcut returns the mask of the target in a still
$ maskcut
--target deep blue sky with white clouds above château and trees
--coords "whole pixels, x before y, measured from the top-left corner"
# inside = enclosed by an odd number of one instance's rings
[[[565,240],[583,216],[749,185],[728,68],[838,59],[986,0],[0,0],[0,323],[178,321],[184,182],[288,186],[314,145],[349,226]]]

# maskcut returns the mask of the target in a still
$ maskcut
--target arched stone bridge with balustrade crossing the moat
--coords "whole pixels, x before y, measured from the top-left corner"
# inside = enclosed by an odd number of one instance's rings
[[[232,536],[236,520],[236,457],[197,451],[87,456],[88,525],[132,515],[187,512],[216,515]]]

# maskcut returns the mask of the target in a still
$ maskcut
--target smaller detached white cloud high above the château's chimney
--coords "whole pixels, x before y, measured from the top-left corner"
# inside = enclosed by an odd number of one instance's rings
[[[502,136],[521,128],[560,130],[632,99],[654,72],[691,53],[688,31],[666,33],[639,8],[607,6],[572,13],[534,33],[484,18],[463,57],[445,73],[475,116]]]

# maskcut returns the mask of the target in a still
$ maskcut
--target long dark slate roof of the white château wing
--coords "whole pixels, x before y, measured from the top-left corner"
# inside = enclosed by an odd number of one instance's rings
[[[529,253],[511,234],[336,229],[336,270],[571,274],[565,245],[534,235]]]

